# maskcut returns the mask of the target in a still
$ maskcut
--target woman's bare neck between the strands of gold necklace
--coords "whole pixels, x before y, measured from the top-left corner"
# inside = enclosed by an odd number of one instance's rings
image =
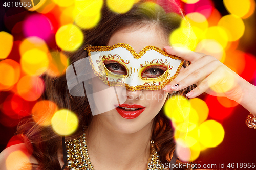
[[[135,133],[121,133],[93,118],[86,131],[87,148],[95,169],[146,169],[153,120]]]

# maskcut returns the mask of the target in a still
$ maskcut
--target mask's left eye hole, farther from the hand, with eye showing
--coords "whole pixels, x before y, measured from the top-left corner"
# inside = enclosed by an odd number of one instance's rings
[[[114,74],[117,75],[127,75],[127,70],[125,67],[115,61],[104,61],[104,65],[106,69],[108,69],[110,72],[113,72]]]

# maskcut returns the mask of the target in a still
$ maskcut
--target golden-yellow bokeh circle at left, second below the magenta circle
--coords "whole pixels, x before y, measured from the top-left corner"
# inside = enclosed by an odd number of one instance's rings
[[[22,55],[20,65],[28,75],[38,76],[47,70],[49,58],[44,51],[35,48]]]

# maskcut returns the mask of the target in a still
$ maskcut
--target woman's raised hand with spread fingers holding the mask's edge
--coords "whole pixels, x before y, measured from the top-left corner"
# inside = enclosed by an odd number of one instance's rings
[[[196,53],[180,47],[164,47],[168,54],[176,55],[191,64],[180,70],[178,76],[163,88],[166,92],[179,91],[190,85],[197,87],[186,94],[195,98],[206,92],[210,95],[226,96],[234,101],[241,101],[243,87],[250,84],[233,72],[215,57]]]

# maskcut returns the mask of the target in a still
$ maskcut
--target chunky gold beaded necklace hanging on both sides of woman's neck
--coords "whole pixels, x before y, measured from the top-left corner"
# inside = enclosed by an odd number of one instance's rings
[[[164,170],[165,168],[154,147],[154,141],[151,140],[150,143],[151,154],[148,158],[147,170]],[[85,133],[77,139],[66,141],[65,144],[68,158],[66,167],[69,170],[95,170],[89,158]]]

